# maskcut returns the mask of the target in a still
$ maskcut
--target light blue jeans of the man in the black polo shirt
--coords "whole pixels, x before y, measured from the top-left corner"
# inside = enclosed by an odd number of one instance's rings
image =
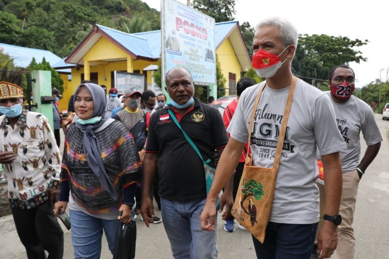
[[[216,259],[216,230],[200,227],[200,214],[205,199],[179,202],[161,197],[163,226],[175,259]],[[216,228],[215,217],[215,228]]]

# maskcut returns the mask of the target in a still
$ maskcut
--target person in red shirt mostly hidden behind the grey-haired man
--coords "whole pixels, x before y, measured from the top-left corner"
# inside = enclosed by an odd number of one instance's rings
[[[235,113],[236,106],[238,106],[240,95],[247,87],[254,86],[254,85],[256,85],[255,81],[248,77],[242,77],[236,84],[236,100],[233,100],[227,106],[227,108],[224,110],[223,113],[223,121],[224,121],[224,125],[226,126],[226,129],[230,125],[230,121],[232,119],[232,116]],[[228,137],[230,138],[230,133],[228,133]],[[233,189],[232,189],[232,195],[234,200],[236,197],[236,193],[238,192],[240,178],[242,177],[243,167],[246,161],[247,150],[248,150],[248,143],[246,143],[245,148],[243,149],[242,155],[239,159],[238,166],[236,167],[234,173],[234,181],[233,181]],[[238,223],[238,227],[240,229],[246,229],[244,226],[242,226],[239,223]],[[226,230],[227,232],[234,232],[235,230],[234,218],[232,217],[232,215],[230,215],[224,222],[224,230]]]

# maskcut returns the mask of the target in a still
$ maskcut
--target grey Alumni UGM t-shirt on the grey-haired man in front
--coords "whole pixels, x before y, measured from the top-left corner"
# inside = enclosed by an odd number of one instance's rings
[[[227,129],[231,138],[247,142],[252,107],[263,84],[250,86],[242,93]],[[289,88],[275,90],[265,86],[262,92],[250,140],[254,166],[273,167]],[[317,146],[321,155],[346,148],[337,130],[334,108],[328,95],[298,79],[277,174],[271,222],[318,222]]]

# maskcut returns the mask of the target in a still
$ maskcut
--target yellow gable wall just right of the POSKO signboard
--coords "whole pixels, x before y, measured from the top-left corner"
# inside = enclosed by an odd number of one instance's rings
[[[239,64],[238,58],[232,48],[230,39],[227,38],[216,50],[217,59],[220,63],[220,68],[224,77],[227,79],[225,87],[229,87],[229,73],[236,75],[236,82],[240,79],[242,67]]]

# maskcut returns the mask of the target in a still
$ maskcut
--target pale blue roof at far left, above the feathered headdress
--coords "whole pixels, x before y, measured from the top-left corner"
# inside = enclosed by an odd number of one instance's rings
[[[61,61],[59,56],[45,50],[19,47],[4,43],[0,43],[0,49],[3,53],[12,57],[14,59],[15,66],[20,68],[28,67],[28,65],[30,65],[31,61],[33,60],[33,57],[37,63],[42,62],[43,58],[45,58],[52,67],[55,63]]]

